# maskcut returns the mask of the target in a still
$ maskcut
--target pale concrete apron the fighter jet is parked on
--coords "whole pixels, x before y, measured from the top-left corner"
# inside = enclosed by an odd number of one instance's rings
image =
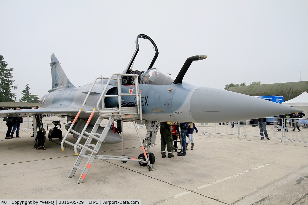
[[[145,129],[140,129],[144,136]],[[292,204],[307,193],[306,143],[279,139],[235,139],[234,135],[194,135],[186,156],[161,158],[160,135],[151,148],[156,161],[148,171],[136,162],[95,159],[85,180],[72,147],[60,140],[36,150],[32,131],[6,140],[0,131],[1,199],[141,199],[141,204]],[[125,127],[125,154],[142,153],[134,128]],[[65,131],[63,130],[63,135]],[[75,143],[76,139],[69,137]],[[122,155],[121,143],[103,145],[99,154]],[[307,200],[307,197],[301,201]],[[301,202],[300,201],[300,202]]]

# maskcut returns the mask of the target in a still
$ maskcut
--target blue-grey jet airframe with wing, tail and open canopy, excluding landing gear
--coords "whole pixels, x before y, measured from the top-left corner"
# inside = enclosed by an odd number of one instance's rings
[[[139,51],[138,38],[145,38],[152,42],[156,54],[148,68],[144,71],[133,71],[132,65]],[[190,123],[219,123],[230,122],[248,119],[257,119],[269,116],[283,115],[301,110],[285,106],[279,103],[270,102],[260,98],[235,93],[227,90],[194,86],[185,82],[182,79],[188,70],[190,64],[195,60],[207,58],[206,55],[198,55],[187,58],[182,69],[176,78],[170,74],[153,68],[153,64],[158,56],[158,50],[155,43],[148,36],[140,34],[136,39],[136,51],[132,57],[125,74],[136,74],[140,76],[139,91],[141,93],[142,119],[146,121],[170,121],[170,122],[190,122]],[[52,89],[48,94],[41,98],[43,109],[30,110],[13,110],[0,111],[0,116],[32,116],[32,115],[49,115],[55,114],[62,117],[68,117],[73,121],[79,110],[82,108],[92,84],[75,87],[64,73],[60,62],[54,54],[51,55],[51,78]],[[148,81],[143,84],[145,76]],[[106,84],[107,80],[97,81],[87,102],[84,106],[85,110],[92,111],[96,108],[96,104],[103,90],[102,84]],[[132,93],[136,89],[132,79],[122,76],[121,92]],[[105,87],[106,85],[104,85]],[[105,94],[115,95],[115,97],[104,98],[104,107],[114,108],[119,106],[118,101],[118,86],[116,80],[111,80],[106,88]],[[136,90],[134,91],[136,92]],[[130,105],[136,104],[136,97],[133,95],[124,95],[121,97],[122,103]],[[81,131],[86,123],[86,119],[90,114],[81,112],[77,123],[74,125],[75,131]],[[99,114],[96,112],[91,119],[89,125],[93,127]],[[136,118],[134,120],[138,120]],[[91,126],[88,129],[91,129]],[[66,128],[69,127],[66,126]],[[121,136],[113,133],[111,130],[110,138],[108,135],[105,138],[105,143],[118,143],[121,141]]]

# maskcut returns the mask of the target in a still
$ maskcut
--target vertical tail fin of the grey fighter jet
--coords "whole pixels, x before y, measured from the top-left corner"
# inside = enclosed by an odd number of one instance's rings
[[[49,90],[49,92],[51,92],[52,90],[56,90],[56,88],[65,89],[68,87],[75,87],[71,83],[71,81],[67,78],[66,74],[64,73],[60,65],[61,63],[55,57],[55,54],[52,54],[50,59],[51,63],[49,65],[51,66],[52,89]]]

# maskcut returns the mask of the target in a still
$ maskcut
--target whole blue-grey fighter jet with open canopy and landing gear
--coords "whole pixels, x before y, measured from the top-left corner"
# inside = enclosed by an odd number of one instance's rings
[[[155,51],[147,70],[133,69],[139,52],[140,38],[149,40]],[[34,115],[39,119],[41,115],[55,114],[67,117],[67,120],[73,123],[68,123],[66,129],[76,131],[73,134],[77,136],[76,133],[90,133],[89,130],[95,127],[97,119],[108,119],[107,115],[110,114],[118,122],[138,122],[146,125],[147,136],[142,143],[147,148],[146,154],[150,156],[152,153],[149,152],[149,147],[155,144],[161,121],[219,123],[300,111],[244,94],[183,82],[191,63],[206,59],[206,55],[187,58],[176,77],[153,67],[157,57],[155,42],[147,35],[140,34],[136,38],[135,53],[122,73],[114,73],[106,78],[98,77],[92,84],[76,87],[67,78],[59,60],[52,54],[52,89],[41,98],[43,109],[1,111],[0,116]],[[136,108],[136,112],[129,113],[131,110],[125,111],[125,108]],[[117,124],[120,131],[122,127],[120,123]],[[99,126],[98,129],[100,130],[95,132],[102,133],[104,128]],[[102,143],[119,143],[121,139],[114,129],[110,129]],[[80,148],[79,145],[77,147]]]

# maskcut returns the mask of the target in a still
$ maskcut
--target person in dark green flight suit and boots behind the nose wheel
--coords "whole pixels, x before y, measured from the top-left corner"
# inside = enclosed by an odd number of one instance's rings
[[[161,157],[166,157],[166,145],[167,145],[167,151],[168,151],[168,158],[174,157],[172,155],[172,135],[170,132],[170,127],[167,122],[160,122],[160,150],[161,150]]]

